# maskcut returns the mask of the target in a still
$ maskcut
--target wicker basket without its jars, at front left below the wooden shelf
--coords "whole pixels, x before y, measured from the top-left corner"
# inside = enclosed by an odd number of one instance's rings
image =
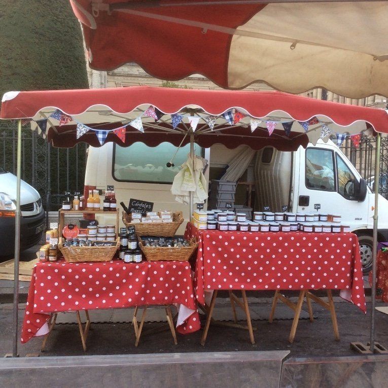
[[[120,239],[113,246],[63,246],[61,241],[58,249],[68,263],[111,261],[120,247]]]

